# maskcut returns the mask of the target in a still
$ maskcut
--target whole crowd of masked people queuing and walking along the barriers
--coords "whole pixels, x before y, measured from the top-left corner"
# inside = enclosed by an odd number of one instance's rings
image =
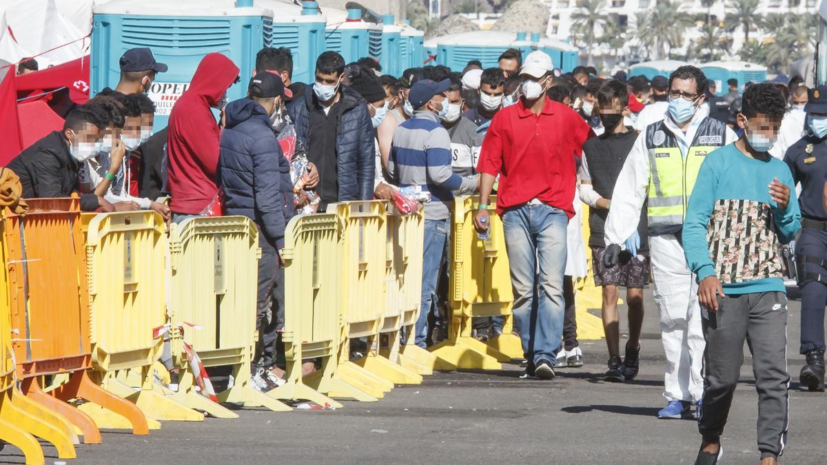
[[[221,212],[251,218],[261,247],[251,381],[261,391],[284,382],[280,249],[289,218],[400,191],[428,199],[422,311],[411,335],[420,347],[447,334],[453,199],[479,195],[474,223],[483,235],[496,195],[524,377],[549,380],[559,367],[583,365],[572,283],[587,274],[587,244],[603,292],[605,380],[638,375],[643,288],[652,280],[667,359],[666,405],[657,416],[696,416],[696,463],[716,463],[723,453],[745,340],[762,463],[776,463],[783,451],[785,274],[797,276],[802,290],[801,382],[824,391],[825,87],[747,83],[742,94],[730,79],[729,93],[718,97],[715,83],[691,65],[668,78],[621,71],[603,79],[583,66],[562,73],[540,50],[524,57],[506,50],[495,68],[471,60],[462,72],[423,65],[398,77],[382,74],[373,59],[346,64],[326,51],[305,84],[291,79],[288,49],[265,48],[249,83],[239,83],[225,55],[206,55],[167,127],[153,133],[146,93],[167,65],[138,48],[120,67],[115,89],[71,109],[62,131],[8,167],[24,197],[78,193],[86,211],[151,209],[175,223]],[[233,85],[246,86],[246,97],[228,102]],[[298,157],[306,161],[297,184]],[[782,246],[799,233],[791,267]],[[621,288],[629,305],[623,352]],[[501,331],[501,319],[474,321],[480,340]]]

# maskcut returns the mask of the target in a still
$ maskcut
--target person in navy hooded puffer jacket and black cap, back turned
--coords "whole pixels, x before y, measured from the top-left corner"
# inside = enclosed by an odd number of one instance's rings
[[[284,83],[278,74],[253,76],[247,98],[228,103],[224,109],[218,154],[225,213],[250,218],[259,231],[259,342],[251,377],[252,386],[259,391],[269,391],[279,382],[272,371],[278,333],[276,315],[284,304],[284,269],[279,251],[284,247],[284,227],[294,207],[289,163],[270,122],[270,115],[280,107],[284,96]],[[271,302],[273,316],[268,318]]]

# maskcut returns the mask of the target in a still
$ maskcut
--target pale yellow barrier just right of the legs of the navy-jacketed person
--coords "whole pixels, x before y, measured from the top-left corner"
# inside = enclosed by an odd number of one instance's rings
[[[287,383],[267,393],[284,400],[342,404],[322,393],[356,400],[376,398],[337,375],[342,338],[342,219],[332,213],[300,215],[284,232],[284,357]],[[322,368],[302,376],[302,362],[320,358]]]

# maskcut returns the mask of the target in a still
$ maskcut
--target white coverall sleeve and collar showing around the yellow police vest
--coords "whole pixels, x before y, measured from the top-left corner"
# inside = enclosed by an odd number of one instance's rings
[[[701,105],[695,116],[692,117],[692,122],[686,128],[686,132],[681,131],[671,117],[663,120],[667,130],[677,138],[683,156],[686,156],[689,151],[696,132],[698,132],[698,127],[700,127],[700,122],[709,114],[709,106]],[[735,136],[735,132],[727,127],[724,145],[731,144],[736,140],[738,140],[738,137]],[[629,152],[623,169],[620,170],[618,181],[614,185],[612,206],[609,209],[609,218],[606,218],[605,224],[606,246],[623,244],[637,230],[638,222],[629,221],[629,218],[640,218],[640,210],[643,209],[643,202],[646,201],[648,196],[650,173],[649,155],[646,149],[646,132],[643,131],[638,135],[638,139],[634,141],[632,151]]]

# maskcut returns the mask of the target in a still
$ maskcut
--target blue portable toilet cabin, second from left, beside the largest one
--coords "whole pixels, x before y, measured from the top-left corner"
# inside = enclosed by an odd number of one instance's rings
[[[325,50],[324,28],[327,20],[318,9],[318,2],[302,2],[302,6],[284,0],[256,0],[256,7],[273,12],[265,18],[264,46],[286,47],[293,55],[293,82],[311,83],[316,59]]]

